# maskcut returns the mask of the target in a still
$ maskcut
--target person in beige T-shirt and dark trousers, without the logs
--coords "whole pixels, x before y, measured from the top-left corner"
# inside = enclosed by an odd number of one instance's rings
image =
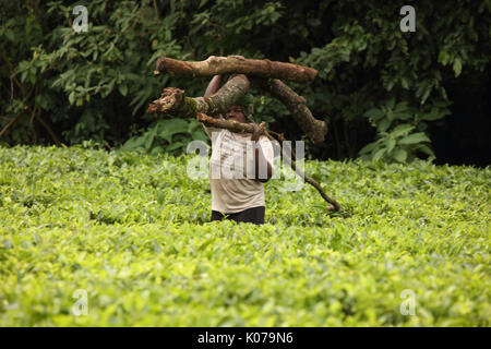
[[[204,97],[215,94],[221,85],[223,75],[215,75]],[[237,103],[225,113],[226,120],[248,123],[247,108]],[[213,116],[223,118],[221,116]],[[231,219],[237,222],[264,224],[264,184],[273,176],[274,151],[264,135],[263,123],[250,133],[238,133],[203,124],[212,140],[209,184],[212,189],[211,220]]]

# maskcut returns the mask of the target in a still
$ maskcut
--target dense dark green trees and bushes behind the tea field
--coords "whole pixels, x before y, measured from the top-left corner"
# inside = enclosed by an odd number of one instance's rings
[[[76,4],[88,9],[86,33],[72,29]],[[308,144],[314,158],[406,163],[436,148],[440,160],[488,165],[490,2],[414,1],[414,33],[399,29],[403,4],[2,1],[0,142],[94,140],[177,154],[203,136],[200,127],[183,121],[169,130],[145,107],[164,86],[202,95],[206,80],[154,77],[157,57],[243,55],[320,71],[312,84],[292,84],[330,125],[325,144]],[[258,96],[255,109],[273,129],[301,137],[271,98]]]

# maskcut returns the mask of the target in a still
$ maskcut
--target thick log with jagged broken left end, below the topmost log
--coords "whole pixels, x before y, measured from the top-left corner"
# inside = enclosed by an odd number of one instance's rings
[[[178,118],[195,118],[196,112],[224,113],[251,87],[249,79],[238,74],[229,79],[209,97],[187,97],[183,89],[166,87],[160,98],[148,106],[148,113],[165,113]]]

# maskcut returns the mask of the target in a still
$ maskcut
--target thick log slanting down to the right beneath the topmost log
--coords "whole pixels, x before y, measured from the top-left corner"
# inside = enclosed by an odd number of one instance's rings
[[[314,144],[324,142],[327,125],[325,121],[316,120],[312,116],[312,112],[306,105],[306,98],[296,94],[295,91],[277,79],[255,79],[253,83],[280,100],[291,112],[294,120],[303,133]]]

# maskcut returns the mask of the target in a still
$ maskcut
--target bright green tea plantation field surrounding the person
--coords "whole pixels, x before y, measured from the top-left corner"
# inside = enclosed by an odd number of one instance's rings
[[[343,210],[271,180],[256,227],[190,159],[0,147],[0,326],[490,326],[491,168],[307,161]]]

